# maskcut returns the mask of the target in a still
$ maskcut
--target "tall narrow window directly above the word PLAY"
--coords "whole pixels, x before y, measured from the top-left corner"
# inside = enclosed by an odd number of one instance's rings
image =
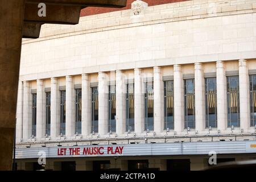
[[[109,85],[109,132],[115,132],[115,85]]]

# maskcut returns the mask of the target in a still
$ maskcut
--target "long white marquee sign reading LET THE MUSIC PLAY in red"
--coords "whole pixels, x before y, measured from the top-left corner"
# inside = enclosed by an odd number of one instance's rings
[[[24,146],[23,146],[24,147]],[[16,159],[38,158],[44,152],[46,158],[79,158],[95,156],[151,156],[151,155],[208,155],[256,153],[256,141],[216,141],[216,142],[180,142],[180,143],[142,143],[84,145],[63,147],[16,148]]]

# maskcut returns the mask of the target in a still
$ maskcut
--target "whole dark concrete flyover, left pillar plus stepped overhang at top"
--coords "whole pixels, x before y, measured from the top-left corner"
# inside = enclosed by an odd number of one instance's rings
[[[39,3],[46,16],[38,16]],[[0,170],[11,170],[22,38],[38,38],[44,23],[77,24],[84,7],[125,7],[126,0],[0,1]]]

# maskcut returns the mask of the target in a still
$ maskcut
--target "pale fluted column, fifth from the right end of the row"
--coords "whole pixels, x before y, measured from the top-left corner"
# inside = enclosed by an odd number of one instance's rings
[[[154,131],[160,133],[164,128],[164,97],[162,68],[154,67]]]

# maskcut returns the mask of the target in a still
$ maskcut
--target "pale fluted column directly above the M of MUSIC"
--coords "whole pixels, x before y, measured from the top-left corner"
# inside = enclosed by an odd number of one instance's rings
[[[82,136],[90,134],[90,81],[88,74],[82,74]]]

